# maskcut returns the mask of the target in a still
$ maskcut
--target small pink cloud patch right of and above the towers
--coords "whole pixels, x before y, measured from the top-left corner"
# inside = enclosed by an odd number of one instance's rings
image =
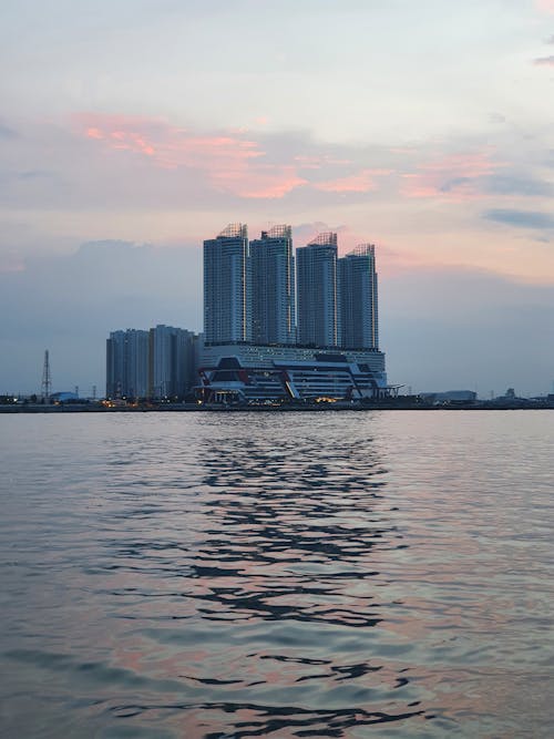
[[[454,203],[481,197],[479,179],[503,166],[493,162],[488,152],[453,154],[423,164],[419,172],[402,176],[401,193],[406,197],[439,198]]]

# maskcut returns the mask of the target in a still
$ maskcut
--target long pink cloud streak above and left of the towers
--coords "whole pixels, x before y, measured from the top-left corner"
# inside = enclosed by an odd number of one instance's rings
[[[79,132],[107,150],[129,152],[166,170],[201,172],[216,188],[239,197],[279,198],[306,183],[295,165],[269,164],[246,132],[197,135],[158,119],[82,113]]]

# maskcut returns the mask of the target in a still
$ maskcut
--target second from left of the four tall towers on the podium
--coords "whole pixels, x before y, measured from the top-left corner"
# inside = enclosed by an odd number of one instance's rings
[[[294,343],[295,258],[290,226],[274,226],[250,242],[254,343]]]

